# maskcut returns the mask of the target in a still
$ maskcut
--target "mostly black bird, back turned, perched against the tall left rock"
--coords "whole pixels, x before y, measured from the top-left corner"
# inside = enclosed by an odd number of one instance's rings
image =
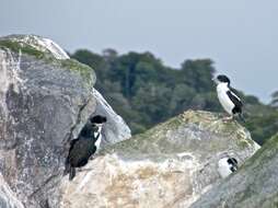
[[[106,117],[96,115],[89,119],[77,139],[70,142],[69,154],[66,160],[65,174],[69,173],[71,181],[76,176],[76,167],[84,166],[90,157],[99,150],[102,140],[102,126]]]

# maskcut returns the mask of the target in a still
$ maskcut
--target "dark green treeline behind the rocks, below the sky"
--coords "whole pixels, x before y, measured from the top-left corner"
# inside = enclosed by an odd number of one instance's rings
[[[106,49],[102,55],[80,49],[71,55],[91,66],[97,76],[95,88],[113,108],[139,134],[186,109],[223,112],[211,79],[216,73],[210,59],[185,60],[181,68],[163,65],[151,53],[118,55]],[[239,92],[239,91],[238,91]],[[270,92],[269,92],[270,93]],[[271,105],[239,92],[252,137],[260,145],[278,131],[278,93]]]

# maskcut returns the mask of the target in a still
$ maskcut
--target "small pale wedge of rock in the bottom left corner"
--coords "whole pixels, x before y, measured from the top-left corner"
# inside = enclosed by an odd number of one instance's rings
[[[0,174],[0,207],[1,208],[24,208],[22,203],[15,197],[9,185]]]

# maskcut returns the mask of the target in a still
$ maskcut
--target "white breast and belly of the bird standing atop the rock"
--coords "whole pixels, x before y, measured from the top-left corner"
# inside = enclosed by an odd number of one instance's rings
[[[219,99],[220,104],[224,108],[224,111],[229,114],[233,114],[232,109],[234,108],[233,102],[228,96],[227,92],[229,91],[229,88],[225,83],[220,83],[217,85],[217,95]]]

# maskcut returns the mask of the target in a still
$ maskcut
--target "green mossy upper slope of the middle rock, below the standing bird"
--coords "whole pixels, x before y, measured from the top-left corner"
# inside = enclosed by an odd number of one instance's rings
[[[213,140],[208,142],[210,136]],[[202,140],[198,141],[195,137],[202,137]],[[225,149],[227,146],[244,150],[255,145],[250,140],[247,131],[236,122],[223,123],[218,114],[188,111],[129,140],[106,147],[100,153],[117,152],[124,158],[147,155],[150,159],[151,155],[163,157],[175,152],[197,151],[200,147],[209,152]]]

